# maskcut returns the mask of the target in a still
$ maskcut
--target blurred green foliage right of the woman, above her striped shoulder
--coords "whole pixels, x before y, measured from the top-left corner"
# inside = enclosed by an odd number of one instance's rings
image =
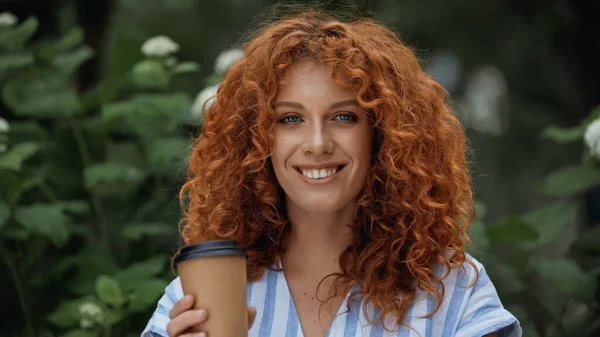
[[[595,109],[579,126],[549,127],[542,136],[583,145],[585,127],[599,114]],[[600,333],[600,228],[580,231],[577,226],[580,196],[600,186],[597,161],[588,157],[548,174],[543,190],[557,201],[500,224],[485,224],[480,216],[472,224],[471,236],[485,245],[471,250],[486,266],[503,304],[519,318],[524,336]],[[485,208],[476,204],[476,209]]]

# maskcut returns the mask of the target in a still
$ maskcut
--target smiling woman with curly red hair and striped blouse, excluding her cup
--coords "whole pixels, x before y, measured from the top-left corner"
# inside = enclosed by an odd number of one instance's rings
[[[249,252],[249,336],[520,336],[464,252],[463,129],[397,35],[307,11],[245,51],[181,197],[186,243]],[[142,336],[203,336],[193,301],[175,279]]]

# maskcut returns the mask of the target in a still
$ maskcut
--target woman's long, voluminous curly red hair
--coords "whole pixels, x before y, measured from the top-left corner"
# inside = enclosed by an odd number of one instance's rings
[[[290,224],[270,162],[275,98],[292,63],[324,62],[370,112],[375,143],[350,225],[353,244],[339,258],[335,282],[361,284],[353,296],[381,313],[371,322],[384,325],[392,315],[404,324],[417,287],[437,300],[433,315],[443,278],[470,262],[464,246],[474,216],[466,137],[447,92],[393,31],[371,19],[343,22],[307,11],[270,23],[244,49],[205,111],[190,157],[180,193],[185,243],[236,240],[249,253],[251,281],[285,252]],[[341,72],[349,84],[338,80]],[[445,275],[435,272],[440,263]]]

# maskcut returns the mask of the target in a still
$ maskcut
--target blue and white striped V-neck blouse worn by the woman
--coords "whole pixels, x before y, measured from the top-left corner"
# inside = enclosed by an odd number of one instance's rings
[[[346,295],[327,337],[481,337],[494,331],[498,332],[498,337],[521,337],[518,320],[502,306],[483,265],[470,256],[468,258],[479,270],[475,284],[472,285],[475,271],[470,264],[453,269],[443,281],[446,291],[442,305],[429,318],[423,316],[435,308],[435,299],[419,291],[405,317],[406,325],[412,329],[401,326],[390,332],[381,325],[369,324],[363,314],[363,301],[351,301],[348,311]],[[168,337],[169,310],[182,297],[181,282],[177,277],[167,286],[141,337]],[[267,269],[260,280],[249,282],[247,301],[257,311],[249,337],[304,337],[283,272]],[[378,317],[370,304],[367,304],[367,313],[370,317]],[[388,322],[391,324],[391,320]],[[390,326],[386,324],[386,327]]]

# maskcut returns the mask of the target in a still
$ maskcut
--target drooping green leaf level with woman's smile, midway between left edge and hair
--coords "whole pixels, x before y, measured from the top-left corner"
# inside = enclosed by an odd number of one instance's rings
[[[144,179],[144,173],[135,167],[116,162],[98,163],[88,166],[83,171],[85,186],[88,189],[107,183],[124,182],[139,183]]]

